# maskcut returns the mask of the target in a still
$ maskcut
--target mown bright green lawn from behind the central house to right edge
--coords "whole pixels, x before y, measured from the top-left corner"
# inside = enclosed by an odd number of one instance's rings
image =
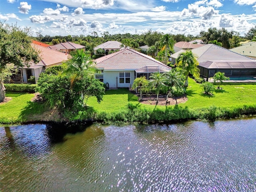
[[[223,88],[222,90],[217,90],[213,96],[208,96],[202,94],[200,84],[189,79],[187,89],[188,101],[179,104],[179,106],[196,109],[212,105],[216,107],[232,107],[256,104],[256,84],[230,84],[222,85],[221,87]],[[107,90],[100,104],[97,103],[96,98],[89,98],[87,104],[93,106],[98,112],[115,112],[127,108],[129,102],[138,105],[140,108],[152,110],[166,108],[166,106],[140,104],[138,98],[127,89]],[[172,107],[174,106],[168,106],[168,108]]]

